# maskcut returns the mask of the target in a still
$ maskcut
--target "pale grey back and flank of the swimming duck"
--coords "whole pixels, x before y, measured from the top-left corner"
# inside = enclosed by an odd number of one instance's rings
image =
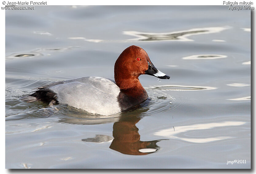
[[[50,83],[39,87],[36,92],[40,91],[52,91],[59,104],[68,104],[89,113],[111,115],[121,112],[117,101],[119,87],[102,77],[82,77]]]

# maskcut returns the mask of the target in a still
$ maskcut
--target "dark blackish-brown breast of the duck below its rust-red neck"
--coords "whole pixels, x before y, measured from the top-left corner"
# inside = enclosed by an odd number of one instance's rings
[[[118,95],[118,103],[121,108],[121,111],[124,111],[144,102],[147,98],[148,94],[144,88],[133,90],[121,90],[121,92]]]

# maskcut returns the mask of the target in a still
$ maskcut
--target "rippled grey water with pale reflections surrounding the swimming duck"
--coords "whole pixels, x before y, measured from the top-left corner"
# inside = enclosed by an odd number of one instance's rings
[[[6,10],[6,168],[250,168],[250,10],[35,6]],[[19,97],[54,81],[114,78],[130,45],[171,78],[111,116]],[[246,164],[227,161],[246,160]]]

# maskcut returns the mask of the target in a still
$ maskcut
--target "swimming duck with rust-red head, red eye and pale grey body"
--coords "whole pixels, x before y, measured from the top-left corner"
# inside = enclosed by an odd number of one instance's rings
[[[58,81],[37,87],[22,101],[41,101],[48,106],[68,104],[96,115],[112,115],[125,111],[148,99],[138,77],[147,74],[170,79],[159,71],[139,46],[129,46],[114,64],[114,80],[89,76]]]

